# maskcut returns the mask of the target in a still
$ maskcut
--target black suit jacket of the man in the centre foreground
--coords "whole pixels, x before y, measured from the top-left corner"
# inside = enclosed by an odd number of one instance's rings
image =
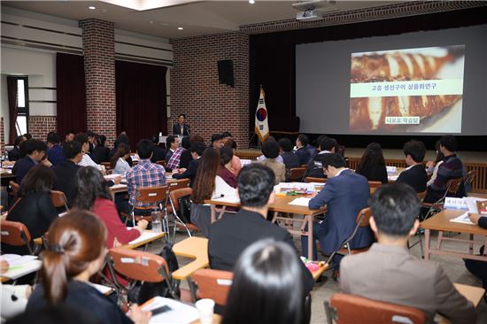
[[[241,209],[236,215],[226,215],[210,227],[208,235],[210,267],[233,271],[236,261],[245,248],[251,243],[268,238],[288,243],[296,250],[290,233],[264,219],[261,214]],[[313,289],[313,276],[299,259],[298,251],[296,258],[302,267],[302,280],[307,294]]]

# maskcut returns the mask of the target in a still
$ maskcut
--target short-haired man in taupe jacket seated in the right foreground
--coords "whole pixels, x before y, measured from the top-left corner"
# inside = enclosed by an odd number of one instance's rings
[[[419,308],[428,323],[436,312],[452,323],[475,323],[474,305],[455,289],[442,266],[414,258],[406,248],[420,225],[414,189],[401,182],[383,185],[375,190],[371,208],[370,226],[378,243],[367,252],[344,257],[344,293]]]

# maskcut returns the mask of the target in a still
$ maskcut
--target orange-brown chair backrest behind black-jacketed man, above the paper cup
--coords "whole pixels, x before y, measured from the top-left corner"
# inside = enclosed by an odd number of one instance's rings
[[[197,284],[197,298],[210,298],[218,305],[227,305],[228,292],[232,286],[234,274],[229,271],[199,269],[191,274]]]

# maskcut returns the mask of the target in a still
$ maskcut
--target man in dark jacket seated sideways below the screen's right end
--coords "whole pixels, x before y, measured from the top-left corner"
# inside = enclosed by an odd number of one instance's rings
[[[455,151],[457,141],[452,135],[443,135],[440,138],[440,151],[443,153],[443,163],[438,166],[437,178],[428,187],[428,192],[424,201],[434,203],[443,197],[449,180],[461,178],[463,176],[463,164]]]

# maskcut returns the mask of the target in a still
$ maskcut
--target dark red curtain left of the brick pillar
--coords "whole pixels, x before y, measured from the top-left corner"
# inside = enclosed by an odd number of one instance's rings
[[[86,90],[84,60],[79,55],[57,53],[57,122],[58,134],[64,138],[66,131],[86,131]]]

